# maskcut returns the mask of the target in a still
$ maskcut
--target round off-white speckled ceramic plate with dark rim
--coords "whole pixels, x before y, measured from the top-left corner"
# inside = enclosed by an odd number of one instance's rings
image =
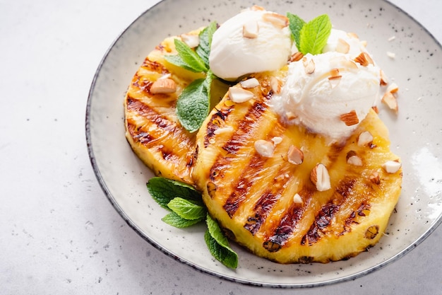
[[[90,89],[86,133],[92,166],[104,192],[127,223],[172,258],[217,277],[268,287],[313,287],[361,277],[405,255],[441,223],[442,50],[419,23],[399,8],[373,1],[165,0],[143,13],[110,47]],[[222,23],[257,4],[311,19],[328,13],[335,28],[368,41],[376,62],[400,86],[398,115],[381,110],[392,149],[402,158],[403,189],[388,232],[369,252],[328,264],[278,265],[233,245],[239,267],[230,270],[208,252],[203,226],[175,229],[161,221],[165,210],[148,194],[153,173],[124,137],[123,99],[144,57],[166,36],[210,21]],[[394,40],[392,40],[394,37]],[[395,53],[395,58],[386,52]]]

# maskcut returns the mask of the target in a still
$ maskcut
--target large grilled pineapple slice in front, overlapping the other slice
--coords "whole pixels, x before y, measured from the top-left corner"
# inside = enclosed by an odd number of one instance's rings
[[[382,166],[398,156],[374,111],[339,145],[283,125],[269,107],[283,75],[256,74],[253,99],[234,103],[227,93],[210,112],[197,134],[193,179],[211,216],[252,253],[280,263],[350,258],[386,230],[402,170],[387,173]],[[366,131],[373,140],[359,141]],[[321,179],[318,164],[330,175],[328,190],[313,183]]]

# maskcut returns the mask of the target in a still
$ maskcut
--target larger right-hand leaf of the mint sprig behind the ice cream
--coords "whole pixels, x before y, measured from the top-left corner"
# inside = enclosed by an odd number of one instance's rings
[[[331,28],[330,18],[326,14],[303,25],[299,35],[299,51],[303,54],[320,54],[327,44]]]

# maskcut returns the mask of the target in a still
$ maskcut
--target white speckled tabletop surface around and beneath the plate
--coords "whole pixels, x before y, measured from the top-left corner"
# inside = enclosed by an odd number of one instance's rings
[[[121,219],[90,166],[85,106],[109,45],[156,2],[0,0],[0,294],[442,294],[441,227],[366,277],[268,289],[196,272]],[[442,41],[442,1],[393,3]]]

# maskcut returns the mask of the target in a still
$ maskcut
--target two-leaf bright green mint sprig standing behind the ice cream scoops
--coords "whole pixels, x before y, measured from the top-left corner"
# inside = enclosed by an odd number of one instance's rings
[[[332,29],[328,15],[323,14],[313,18],[309,23],[292,13],[287,13],[287,18],[289,18],[289,29],[299,52],[302,54],[322,53]]]

